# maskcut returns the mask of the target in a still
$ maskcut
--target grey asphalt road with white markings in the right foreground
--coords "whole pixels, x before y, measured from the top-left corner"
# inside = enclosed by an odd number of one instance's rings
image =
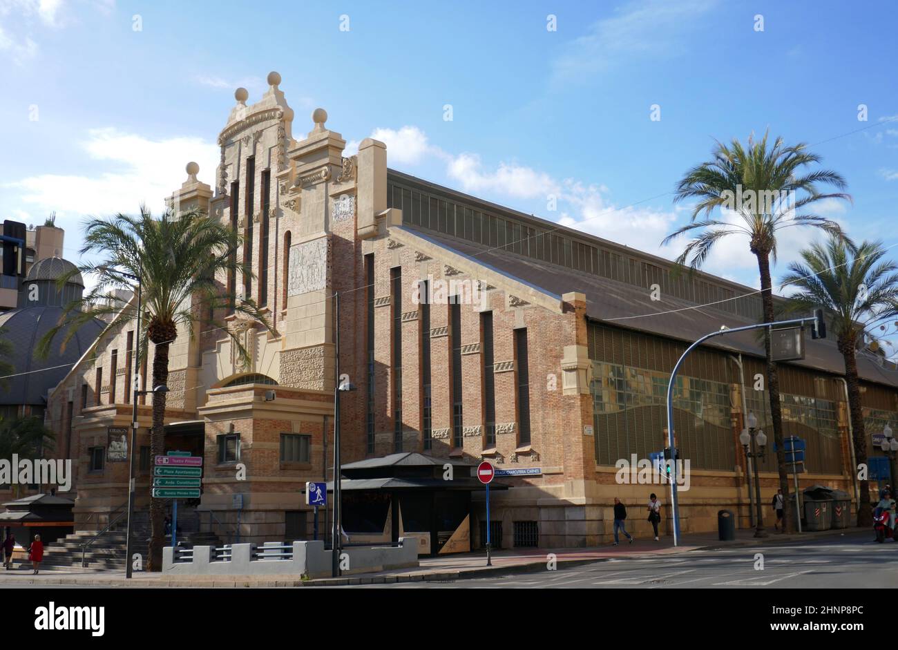
[[[763,558],[763,568],[757,554]],[[700,550],[672,556],[612,559],[541,573],[433,583],[377,584],[350,589],[834,589],[898,586],[898,543],[872,533],[813,543]]]

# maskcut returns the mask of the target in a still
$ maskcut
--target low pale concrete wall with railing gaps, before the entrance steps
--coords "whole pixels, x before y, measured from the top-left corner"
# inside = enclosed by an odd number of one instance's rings
[[[341,561],[344,566],[343,575],[369,573],[393,568],[418,567],[418,547],[414,540],[396,546],[365,546],[343,549]],[[209,546],[193,547],[193,559],[190,562],[174,562],[174,549],[163,549],[163,574],[172,575],[308,575],[312,578],[330,577],[331,554],[324,549],[324,542],[293,542],[293,558],[281,559],[277,556],[263,559],[274,546],[269,542],[256,544],[233,544],[230,561],[215,561],[212,558],[213,548]],[[253,551],[257,557],[253,558]],[[344,557],[346,556],[346,557]],[[348,567],[347,567],[348,563]]]

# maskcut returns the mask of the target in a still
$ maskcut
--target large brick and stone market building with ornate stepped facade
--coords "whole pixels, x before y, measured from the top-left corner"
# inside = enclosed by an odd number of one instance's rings
[[[339,391],[350,537],[418,533],[431,553],[480,547],[483,494],[466,472],[481,459],[500,474],[491,525],[502,547],[607,542],[614,496],[633,506],[637,534],[649,530],[638,514],[650,492],[666,503],[667,487],[621,484],[618,465],[664,448],[677,357],[709,331],[758,322],[757,293],[392,170],[374,139],[348,153],[324,110],[311,130],[295,127],[279,83],[271,73],[256,103],[235,92],[214,183],[190,163],[168,199],[242,233],[255,277],[219,279],[260,303],[273,329],[216,314],[242,337],[245,362],[202,324],[172,347],[166,447],[204,457],[202,496],[189,505],[203,532],[311,538],[302,490],[333,479],[338,331],[339,383],[354,388]],[[50,395],[49,426],[76,441],[76,530],[99,528],[127,498],[126,454],[110,456],[110,444],[130,426],[128,377],[146,387],[134,336],[126,327],[98,338]],[[858,365],[869,433],[894,426],[898,373],[867,356]],[[781,366],[780,386],[786,434],[807,444],[801,483],[854,494],[843,371],[832,340],[808,339],[804,360]],[[714,340],[682,369],[683,531],[713,530],[721,508],[747,523],[738,435],[743,402],[769,426],[759,374],[750,333]],[[151,463],[150,405],[140,400],[138,506]],[[430,465],[465,482],[438,487]],[[764,505],[775,469],[769,452]]]

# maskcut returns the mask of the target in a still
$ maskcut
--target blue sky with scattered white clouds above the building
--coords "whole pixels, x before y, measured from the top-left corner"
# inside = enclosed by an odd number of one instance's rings
[[[214,184],[233,90],[277,70],[295,136],[321,106],[394,168],[666,257],[682,173],[770,128],[848,180],[824,214],[898,258],[895,24],[892,2],[0,0],[0,215],[56,211],[76,259],[85,215],[158,209],[189,160]],[[785,233],[776,273],[815,236]],[[745,242],[706,268],[758,284]]]

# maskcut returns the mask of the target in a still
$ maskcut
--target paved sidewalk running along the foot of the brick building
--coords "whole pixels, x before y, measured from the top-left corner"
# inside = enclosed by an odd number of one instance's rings
[[[415,581],[452,581],[466,578],[507,575],[546,570],[550,560],[559,568],[575,567],[591,562],[608,561],[615,558],[651,558],[659,555],[690,553],[698,550],[750,548],[770,546],[796,541],[816,541],[822,539],[853,536],[869,533],[867,528],[846,528],[842,530],[781,534],[770,531],[766,538],[755,538],[753,529],[736,531],[733,541],[718,540],[717,532],[690,533],[682,536],[680,546],[674,547],[674,540],[664,537],[659,541],[636,540],[629,544],[624,540],[620,546],[603,546],[589,549],[515,549],[499,550],[492,554],[492,567],[487,567],[485,552],[464,553],[437,558],[421,558],[420,567],[396,569],[378,573],[348,575],[339,578],[318,578],[303,580],[299,575],[217,575],[166,576],[136,572],[126,580],[124,571],[87,571],[73,568],[70,571],[41,570],[32,575],[28,566],[0,571],[0,587],[6,584],[81,584],[84,586],[107,587],[298,587],[298,586],[339,586],[346,584],[386,584]]]

